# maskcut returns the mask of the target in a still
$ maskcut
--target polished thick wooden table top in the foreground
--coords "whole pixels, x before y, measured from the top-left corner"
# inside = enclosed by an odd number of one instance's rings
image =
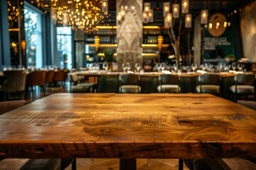
[[[0,158],[256,158],[256,111],[210,94],[53,94],[0,134]]]

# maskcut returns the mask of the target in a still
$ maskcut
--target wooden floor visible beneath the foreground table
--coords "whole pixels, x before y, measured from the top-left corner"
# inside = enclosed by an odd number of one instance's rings
[[[77,170],[117,170],[119,159],[77,159]],[[184,170],[188,170],[186,165]],[[68,166],[65,170],[71,170]],[[178,170],[178,159],[137,159],[137,170]]]

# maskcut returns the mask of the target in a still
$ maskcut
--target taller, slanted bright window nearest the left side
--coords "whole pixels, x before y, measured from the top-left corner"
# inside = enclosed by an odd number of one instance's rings
[[[28,68],[43,66],[41,14],[25,6],[25,39]]]

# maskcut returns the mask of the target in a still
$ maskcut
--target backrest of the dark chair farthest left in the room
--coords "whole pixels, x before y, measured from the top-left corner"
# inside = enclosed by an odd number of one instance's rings
[[[24,91],[26,86],[26,70],[6,70],[4,71],[6,81],[3,90],[6,92]]]

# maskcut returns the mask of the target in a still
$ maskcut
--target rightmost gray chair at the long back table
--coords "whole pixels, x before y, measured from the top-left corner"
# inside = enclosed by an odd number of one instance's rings
[[[234,100],[237,101],[238,95],[253,94],[255,97],[255,74],[237,74],[234,77],[235,85],[230,86],[230,91],[235,94]]]

